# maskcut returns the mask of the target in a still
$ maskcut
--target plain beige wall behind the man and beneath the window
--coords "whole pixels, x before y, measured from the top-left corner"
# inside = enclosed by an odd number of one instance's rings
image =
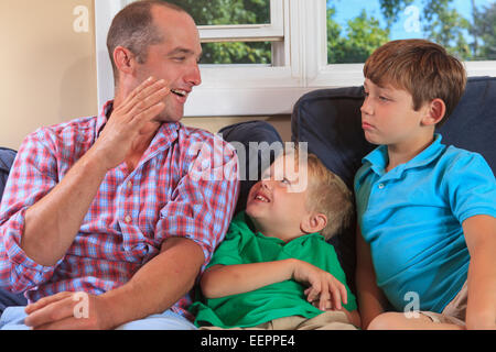
[[[0,146],[17,150],[39,127],[98,113],[94,12],[93,0],[0,0]],[[287,116],[183,122],[216,132],[245,120],[268,120],[290,139]]]

